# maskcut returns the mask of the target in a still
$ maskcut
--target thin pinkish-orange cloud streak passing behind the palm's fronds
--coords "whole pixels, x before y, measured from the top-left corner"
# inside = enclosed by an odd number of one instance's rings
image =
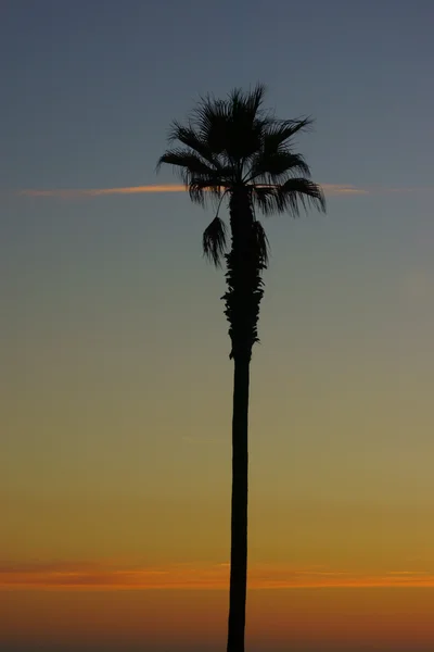
[[[357,186],[344,184],[322,184],[322,189],[328,196],[340,195],[369,195],[371,190]],[[180,184],[164,184],[150,186],[127,186],[117,188],[63,188],[63,189],[38,189],[28,188],[18,190],[20,197],[52,197],[58,199],[87,199],[92,197],[106,197],[110,195],[145,195],[158,192],[184,192],[186,187]]]

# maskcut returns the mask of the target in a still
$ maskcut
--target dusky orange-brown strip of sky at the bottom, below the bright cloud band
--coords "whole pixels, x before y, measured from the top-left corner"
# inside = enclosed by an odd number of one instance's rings
[[[202,590],[3,591],[0,620],[7,644],[67,640],[77,647],[217,650],[225,643],[227,599],[226,592]],[[434,592],[421,589],[253,591],[246,643],[310,651],[358,650],[375,641],[387,651],[430,650],[433,609]]]

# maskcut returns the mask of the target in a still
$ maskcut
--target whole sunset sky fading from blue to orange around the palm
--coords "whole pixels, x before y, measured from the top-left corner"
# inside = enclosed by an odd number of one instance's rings
[[[224,276],[155,164],[260,80],[328,213],[265,221],[247,650],[432,651],[431,0],[0,12],[0,649],[224,649]]]

